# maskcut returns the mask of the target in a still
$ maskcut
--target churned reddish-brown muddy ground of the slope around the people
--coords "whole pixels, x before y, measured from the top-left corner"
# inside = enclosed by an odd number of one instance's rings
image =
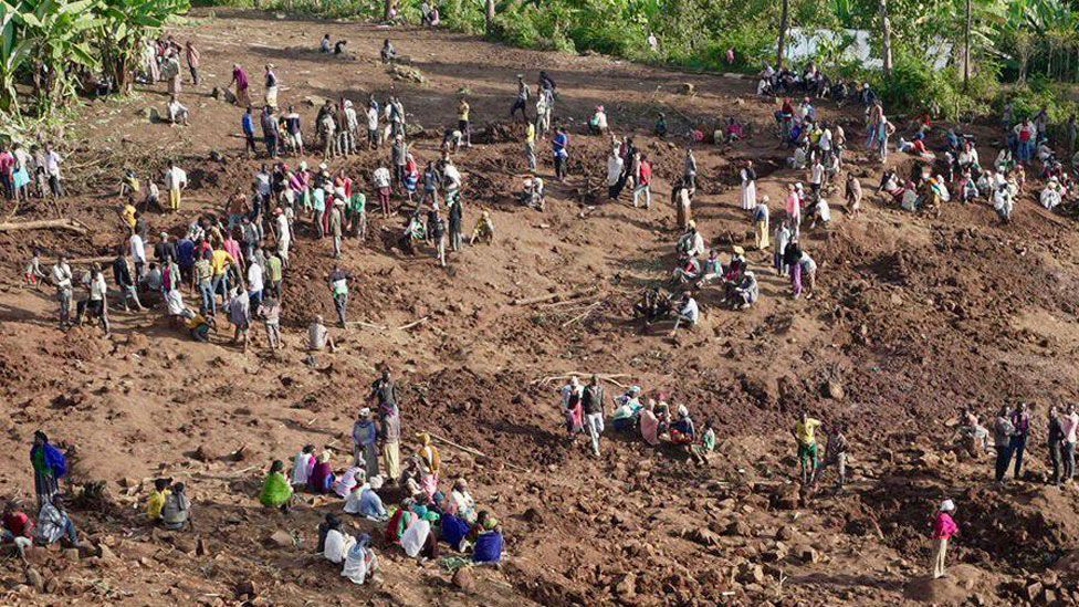
[[[1047,407],[1076,397],[1079,242],[1073,221],[1038,207],[1033,190],[1007,226],[985,205],[912,216],[870,195],[880,168],[856,150],[848,168],[863,179],[865,212],[849,217],[832,193],[832,226],[805,238],[820,266],[817,297],[789,299],[786,282],[768,271],[771,254],[751,251],[763,279],[760,304],[730,312],[716,305],[714,289],[705,290],[702,323],[675,343],[661,332],[639,332],[630,311],[638,290],[663,280],[673,260],[668,184],[681,170],[683,134],[729,115],[753,122],[754,135],[734,147],[694,146],[702,167],[695,213],[717,247],[748,244],[736,159],[763,167],[760,189],[772,197],[774,213],[787,184],[806,179],[775,169],[785,151],[772,135],[772,106],[753,96],[750,81],[515,50],[447,32],[261,13],[200,13],[174,33],[202,50],[206,82],[185,82],[182,94],[192,125],[149,122],[149,107],[164,112],[164,84],[140,86],[129,100],[90,103],[67,142],[73,196],[59,208],[25,206],[14,219],[60,212],[91,226],[92,234],[0,236],[0,390],[8,411],[0,493],[32,493],[27,450],[38,428],[74,448],[74,491],[106,483],[103,502],[74,513],[94,544],[106,546],[104,554],[75,559],[36,551],[33,567],[54,579],[43,592],[25,585],[18,559],[4,558],[4,604],[240,604],[252,598],[237,594],[245,582],[254,584],[254,603],[276,605],[1079,599],[1079,567],[1069,556],[1079,541],[1075,486],[1040,484]],[[355,59],[318,54],[324,33],[347,39]],[[386,36],[427,76],[425,84],[394,81],[376,61]],[[455,121],[459,91],[468,90],[482,129],[507,121],[516,73],[534,82],[546,69],[561,93],[556,122],[573,132],[572,176],[565,185],[548,180],[547,210],[537,213],[511,196],[525,168],[518,142],[461,153],[465,224],[490,210],[494,245],[451,255],[441,270],[429,257],[404,258],[387,247],[399,219],[375,220],[368,242],[346,244],[343,264],[357,276],[353,317],[388,327],[429,320],[409,331],[338,333],[341,350],[319,356],[315,368],[303,364],[300,344],[312,314],[332,316],[323,278],[333,260],[328,242],[303,232],[286,281],[282,360],[263,352],[259,331],[255,347],[241,354],[227,332],[198,345],[159,313],[114,313],[109,338],[93,327],[56,331],[51,294],[20,285],[22,264],[34,242],[46,259],[106,254],[122,242],[115,191],[123,167],[159,174],[175,158],[188,170],[192,187],[182,212],[151,213],[154,233],[177,233],[247,189],[260,160],[239,155],[240,112],[209,96],[228,83],[233,62],[252,74],[256,98],[261,65],[276,65],[280,101],[300,108],[308,139],[315,108],[306,98],[343,94],[362,104],[368,93],[381,100],[396,92],[410,119],[436,134],[418,139],[421,161],[434,156],[437,135]],[[682,83],[696,94],[679,95]],[[605,176],[607,144],[578,127],[597,104],[607,107],[616,132],[635,134],[653,157],[659,179],[651,210],[633,209],[625,195],[616,203],[578,196]],[[649,135],[658,111],[677,133],[666,142]],[[821,113],[847,125],[851,140],[861,138],[857,109],[826,102]],[[992,132],[976,130],[982,156],[992,158]],[[540,149],[546,177],[548,146]],[[211,151],[227,161],[211,161]],[[377,154],[331,165],[367,181],[388,153]],[[585,286],[598,289],[599,305],[577,322],[570,321],[584,312],[578,306],[511,304]],[[339,501],[304,496],[289,515],[258,504],[270,460],[289,459],[307,442],[347,449],[353,416],[383,363],[400,377],[408,433],[436,431],[491,456],[443,450],[449,475],[470,479],[507,538],[505,564],[476,568],[470,593],[454,588],[437,564],[417,564],[381,545],[378,580],[355,587],[312,554],[316,523],[339,511]],[[699,423],[711,418],[720,438],[711,465],[615,433],[600,459],[588,457],[584,441],[564,437],[559,384],[537,383],[570,370],[628,374],[626,384],[685,404]],[[829,396],[828,383],[842,394]],[[952,420],[971,405],[988,421],[1002,402],[1020,399],[1035,406],[1029,473],[992,486],[988,454],[972,459],[950,449]],[[803,407],[850,425],[853,479],[845,495],[823,486],[799,499],[789,428]],[[229,453],[242,446],[242,460],[233,461]],[[148,479],[161,474],[190,488],[190,533],[153,531],[143,520]],[[827,471],[823,485],[832,478]],[[952,577],[930,584],[923,579],[928,521],[943,496],[958,505],[961,534]],[[279,530],[294,534],[297,545],[269,543]]]

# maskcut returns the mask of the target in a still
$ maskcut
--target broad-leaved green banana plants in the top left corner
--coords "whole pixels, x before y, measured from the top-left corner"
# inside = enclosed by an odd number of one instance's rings
[[[126,87],[147,36],[187,9],[188,0],[0,0],[0,113],[19,113],[20,84],[39,114],[71,98],[86,74]]]

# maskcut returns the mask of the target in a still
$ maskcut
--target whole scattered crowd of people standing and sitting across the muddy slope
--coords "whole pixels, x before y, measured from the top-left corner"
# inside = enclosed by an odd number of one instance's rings
[[[438,25],[438,7],[425,4],[422,19],[425,24]],[[346,44],[344,40],[334,43],[326,34],[319,51],[342,54]],[[400,60],[390,40],[385,40],[379,59],[384,63]],[[148,84],[168,83],[168,118],[177,125],[188,124],[192,118],[179,101],[184,81],[181,62],[187,64],[191,84],[199,86],[200,53],[191,42],[181,46],[171,36],[150,40],[145,44],[139,75]],[[125,170],[118,216],[127,236],[115,247],[109,273],[125,312],[159,305],[175,326],[199,342],[210,338],[222,312],[233,328],[232,342],[244,350],[251,325],[261,321],[266,346],[276,354],[283,347],[280,320],[282,305],[287,301],[284,284],[300,237],[311,242],[327,239],[333,258],[343,258],[352,242],[363,242],[369,237],[365,192],[375,197],[370,212],[386,221],[395,216],[401,219],[397,244],[402,254],[412,255],[426,248],[444,266],[448,255],[465,247],[464,180],[455,161],[462,149],[472,147],[472,109],[467,97],[458,100],[455,125],[446,128],[437,157],[423,159],[411,146],[408,114],[399,95],[389,95],[381,103],[374,94],[362,103],[344,96],[326,100],[311,125],[305,125],[295,106],[287,105],[284,111],[279,107],[282,85],[273,64],[264,66],[262,105],[258,109],[251,101],[252,80],[242,65],[234,64],[228,85],[228,98],[242,112],[239,130],[243,134],[244,154],[264,159],[250,187],[237,189],[219,211],[202,212],[187,226],[165,229],[151,238],[149,212],[166,216],[185,209],[187,172],[174,161],[155,175],[139,176],[135,170]],[[889,121],[872,88],[861,84],[851,90],[847,83],[832,82],[814,64],[800,73],[766,66],[757,93],[803,96],[797,104],[789,96],[783,98],[774,118],[779,142],[790,150],[787,167],[805,175],[805,185],[790,184],[782,206],[773,209],[769,197],[757,193],[754,164],[745,160],[737,167],[737,205],[752,227],[753,248],[771,252],[772,272],[788,278],[790,295],[795,299],[815,295],[817,263],[803,248],[803,230],[829,229],[829,196],[841,192],[852,217],[860,212],[862,202],[860,180],[849,171],[846,178],[842,176],[845,154],[850,147],[848,135],[840,124],[818,117],[815,106],[818,100],[858,103],[865,108],[865,148],[881,165],[888,161],[891,151],[915,158],[908,176],[891,168],[882,171],[877,192],[886,203],[916,212],[937,210],[953,199],[963,203],[982,201],[992,206],[1002,221],[1009,221],[1028,171],[1045,184],[1037,197],[1045,208],[1057,209],[1079,198],[1071,171],[1065,168],[1065,161],[1071,165],[1079,161],[1079,155],[1072,156],[1079,132],[1075,116],[1065,126],[1068,158],[1061,161],[1050,140],[1046,109],[1018,119],[1013,106],[1007,105],[1002,116],[1005,146],[992,164],[983,164],[974,135],[958,127],[935,129],[932,111],[912,121],[908,127],[911,133],[903,133],[893,145],[899,128]],[[546,72],[540,72],[535,92],[524,74],[516,76],[516,94],[509,116],[515,119],[520,115],[525,124],[523,150],[528,167],[520,200],[540,211],[545,207],[545,185],[538,174],[538,142],[549,138],[555,180],[564,181],[569,167],[569,132],[553,122],[557,98],[556,85]],[[530,116],[530,105],[534,116]],[[587,121],[593,136],[609,140],[606,197],[619,200],[629,192],[633,208],[650,209],[651,160],[631,135],[617,136],[611,123],[603,105],[596,106]],[[661,137],[668,134],[663,115],[659,116],[656,134]],[[717,143],[734,143],[745,135],[745,126],[731,118],[714,137]],[[329,167],[338,158],[380,150],[386,151],[385,158],[367,179],[345,168]],[[311,160],[315,154],[321,161]],[[31,145],[29,150],[21,144],[10,148],[0,146],[0,187],[8,199],[15,201],[63,196],[62,163],[63,158],[48,143]],[[682,165],[682,175],[671,184],[670,195],[679,228],[674,242],[677,264],[670,272],[670,286],[681,295],[675,300],[659,289],[650,289],[635,305],[646,324],[672,323],[671,335],[677,335],[681,326],[699,323],[698,297],[710,286],[715,287],[719,303],[733,310],[750,308],[761,296],[757,272],[751,266],[745,247],[732,245],[721,253],[708,245],[709,239],[701,233],[693,213],[699,167],[691,148],[685,149]],[[494,234],[490,213],[482,211],[468,245],[478,241],[490,243]],[[65,257],[57,258],[50,269],[43,269],[38,251],[25,272],[29,284],[40,286],[49,282],[55,287],[62,328],[88,317],[108,333],[105,274],[102,263],[93,262],[88,270],[76,275]],[[352,273],[339,263],[324,276],[342,328],[349,324],[353,280]],[[82,295],[76,297],[80,286]],[[186,296],[196,303],[188,305]],[[311,318],[306,348],[312,352],[336,348],[321,315]],[[639,437],[649,447],[672,446],[701,464],[708,464],[716,449],[712,420],[705,418],[699,423],[688,405],[672,405],[669,395],[646,397],[639,386],[630,386],[608,398],[598,375],[587,383],[570,377],[559,395],[568,440],[577,441],[585,435],[597,458],[603,453],[601,439],[608,427],[615,432]],[[342,575],[356,584],[364,584],[378,571],[375,544],[400,546],[409,557],[436,558],[444,543],[453,554],[467,555],[467,561],[500,562],[504,540],[499,520],[490,510],[479,506],[463,477],[450,475],[432,436],[416,433],[402,462],[401,443],[406,442],[406,435],[401,428],[400,399],[388,370],[373,384],[368,405],[358,411],[350,453],[337,453],[329,447],[318,451],[307,444],[291,460],[291,469],[282,460],[272,461],[259,502],[287,511],[294,506],[297,492],[328,496],[331,501],[324,503],[335,503],[334,496],[342,500],[341,512],[326,512],[317,528],[317,552],[341,566]],[[1026,405],[1004,407],[991,431],[966,410],[960,433],[974,453],[987,448],[992,433],[995,480],[1003,483],[1009,468],[1015,479],[1022,478],[1030,421]],[[1052,464],[1050,482],[1057,485],[1071,482],[1079,414],[1071,406],[1064,412],[1051,408],[1047,427]],[[823,456],[818,430],[827,436]],[[839,421],[825,426],[804,411],[792,435],[802,483],[814,486],[823,468],[834,465],[836,490],[842,492],[849,451],[846,425]],[[64,453],[44,433],[38,432],[30,457],[38,501],[36,524],[21,503],[9,500],[3,507],[3,540],[13,542],[20,551],[34,542],[78,545],[77,531],[59,488],[59,481],[66,474]],[[391,503],[387,505],[387,502]],[[146,514],[164,528],[181,531],[192,524],[191,507],[182,482],[157,479],[147,498]],[[957,533],[952,519],[954,512],[954,502],[944,500],[933,519],[934,577],[944,575],[947,543]],[[353,525],[348,522],[359,520],[383,526],[384,541],[373,541],[369,533],[349,531]]]

